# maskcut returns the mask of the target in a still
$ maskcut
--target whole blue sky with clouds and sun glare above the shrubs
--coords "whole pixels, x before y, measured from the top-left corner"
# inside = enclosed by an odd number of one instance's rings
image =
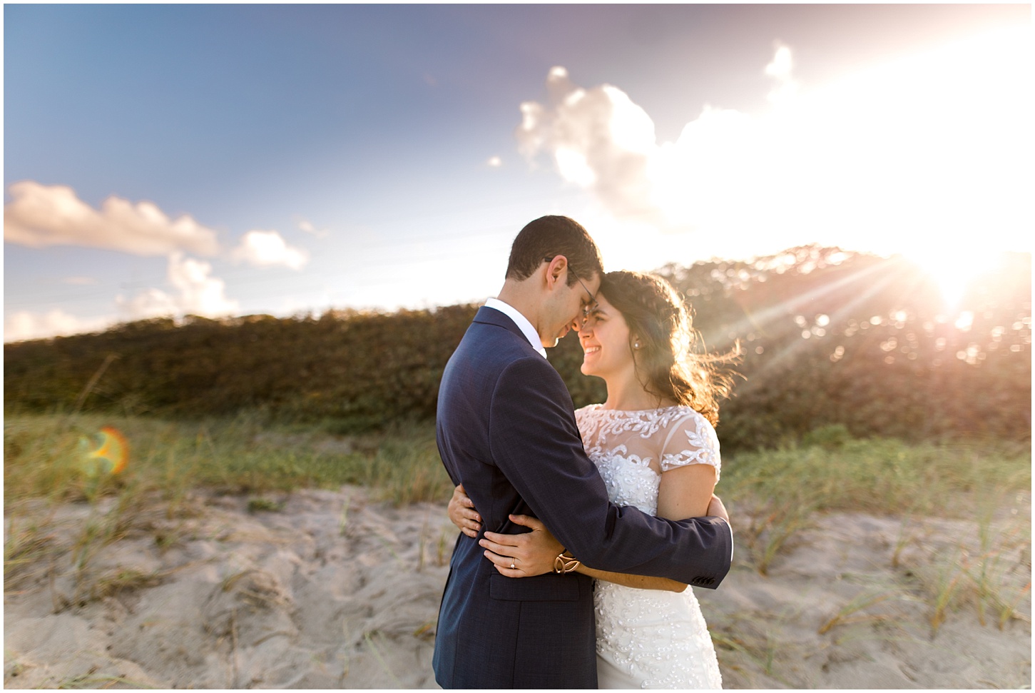
[[[608,268],[1030,251],[1026,5],[5,5],[5,341]],[[976,248],[977,247],[977,248]]]

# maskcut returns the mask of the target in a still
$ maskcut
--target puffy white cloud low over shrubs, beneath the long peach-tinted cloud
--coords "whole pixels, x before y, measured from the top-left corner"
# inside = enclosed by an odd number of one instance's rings
[[[201,315],[218,317],[236,313],[237,300],[227,298],[226,283],[209,277],[212,265],[184,257],[182,253],[169,256],[169,282],[177,292],[170,294],[160,289],[147,289],[132,298],[116,296],[115,302],[126,320],[141,320],[159,315]]]

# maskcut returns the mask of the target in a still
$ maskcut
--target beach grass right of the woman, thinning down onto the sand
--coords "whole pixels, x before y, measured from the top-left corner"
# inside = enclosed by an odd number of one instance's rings
[[[736,518],[741,559],[762,575],[825,512],[901,518],[888,554],[895,584],[860,593],[821,633],[884,618],[870,607],[888,600],[925,605],[933,634],[965,608],[1000,629],[1011,619],[1030,623],[1030,449],[996,441],[910,445],[817,438],[822,442],[723,460],[717,492]],[[935,541],[931,518],[958,521],[958,533]]]

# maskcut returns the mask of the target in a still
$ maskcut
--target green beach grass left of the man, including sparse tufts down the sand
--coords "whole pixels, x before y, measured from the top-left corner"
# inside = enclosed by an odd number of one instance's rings
[[[98,472],[89,458],[103,427],[118,430],[129,451],[118,473]],[[153,537],[159,547],[175,545],[184,520],[200,512],[196,491],[243,495],[249,512],[275,513],[293,489],[343,485],[366,487],[374,499],[395,506],[444,504],[452,492],[427,424],[342,436],[326,427],[276,426],[259,416],[190,423],[8,415],[4,587],[9,591],[38,580],[63,549],[75,566],[71,603],[149,584],[158,578],[98,572],[93,558],[127,536]],[[69,502],[89,508],[70,533],[46,510]]]

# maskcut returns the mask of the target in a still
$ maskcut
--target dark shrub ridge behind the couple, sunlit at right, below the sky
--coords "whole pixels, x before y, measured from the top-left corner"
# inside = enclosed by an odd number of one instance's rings
[[[724,450],[840,424],[905,440],[1031,438],[1031,256],[1007,254],[958,307],[907,260],[817,246],[670,264],[709,351],[739,342]],[[275,318],[188,316],[4,345],[4,408],[196,418],[260,412],[339,433],[434,420],[442,371],[477,306]],[[551,351],[575,406],[603,382],[569,336]]]

